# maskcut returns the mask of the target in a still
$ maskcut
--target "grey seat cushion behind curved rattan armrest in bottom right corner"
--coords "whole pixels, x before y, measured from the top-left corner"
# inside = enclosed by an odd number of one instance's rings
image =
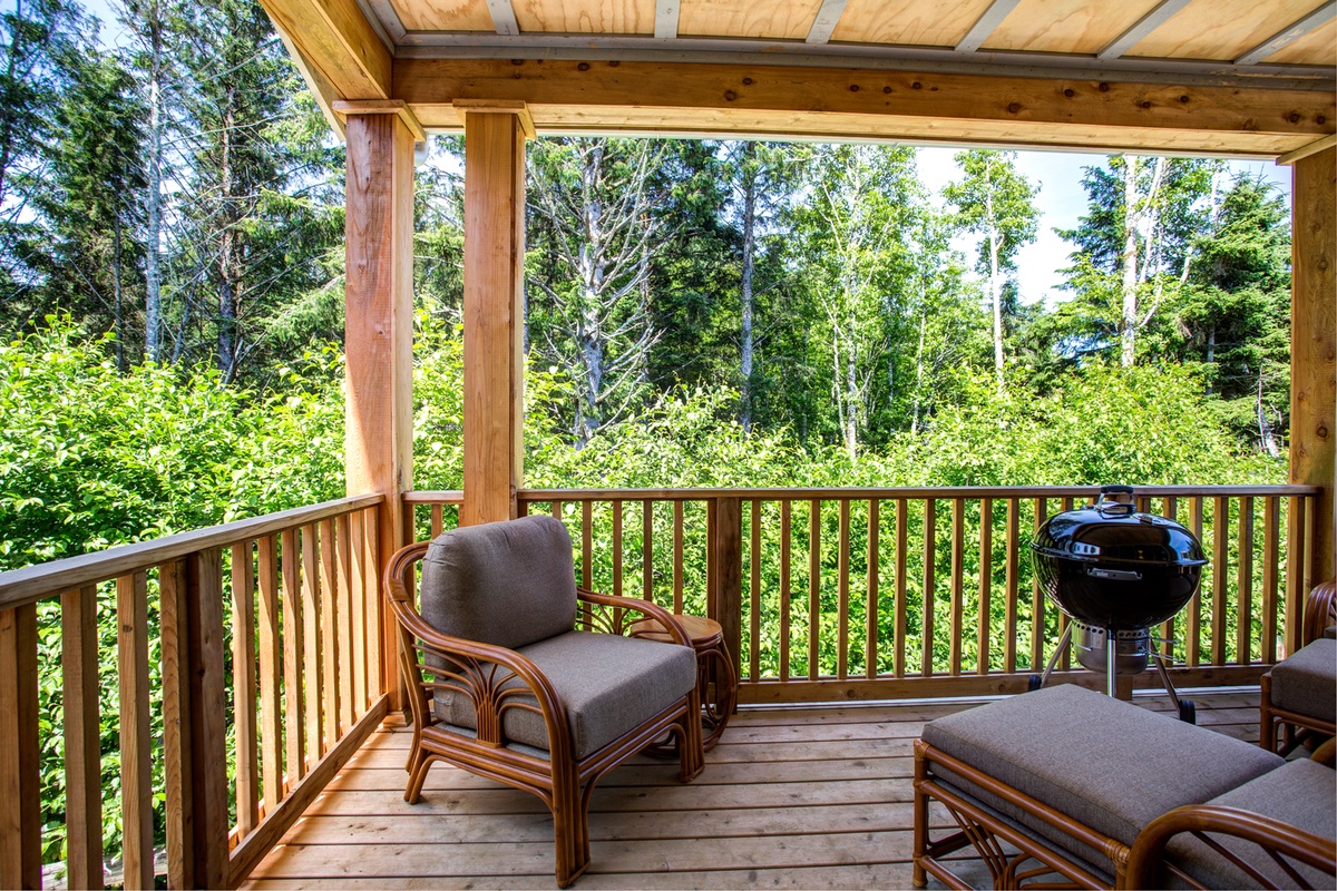
[[[1313,832],[1325,839],[1337,839],[1337,771],[1308,759],[1263,773],[1237,789],[1218,795],[1209,804],[1237,807]],[[1286,888],[1293,880],[1257,844],[1211,835],[1229,851],[1266,875],[1275,887]],[[1166,855],[1190,876],[1209,888],[1257,888],[1257,882],[1221,854],[1191,835],[1178,835]],[[1296,864],[1310,887],[1332,887],[1333,878],[1312,867]]]

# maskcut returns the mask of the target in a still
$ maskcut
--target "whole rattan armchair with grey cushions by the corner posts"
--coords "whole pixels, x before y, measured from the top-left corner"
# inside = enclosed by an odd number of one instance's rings
[[[413,717],[410,804],[439,760],[532,792],[552,811],[566,887],[590,864],[590,797],[604,773],[666,733],[677,737],[682,781],[702,771],[690,639],[654,604],[578,589],[558,520],[409,545],[385,581]],[[674,643],[626,636],[642,617]]]

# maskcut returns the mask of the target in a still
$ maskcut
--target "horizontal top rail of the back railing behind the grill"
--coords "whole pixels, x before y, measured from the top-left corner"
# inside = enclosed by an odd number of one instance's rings
[[[1134,486],[1139,496],[1159,497],[1227,497],[1227,496],[1313,496],[1321,486],[1309,485],[1187,485],[1187,486]],[[520,489],[516,498],[532,501],[701,501],[706,498],[759,498],[779,500],[838,500],[838,498],[1080,498],[1094,496],[1100,486],[889,486],[889,488],[825,488],[825,489]],[[409,492],[408,504],[455,504],[464,494],[457,490]]]

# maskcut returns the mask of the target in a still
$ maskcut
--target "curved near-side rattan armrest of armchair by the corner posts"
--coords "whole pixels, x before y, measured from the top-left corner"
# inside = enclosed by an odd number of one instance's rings
[[[414,647],[414,640],[421,641],[427,649],[435,651],[437,655],[452,661],[464,664],[485,663],[505,668],[524,684],[524,692],[532,695],[537,703],[548,732],[548,751],[552,752],[552,757],[568,759],[571,753],[571,728],[567,725],[566,707],[556,688],[552,687],[552,681],[548,680],[547,675],[543,673],[533,660],[505,647],[445,635],[429,625],[418,614],[413,597],[409,594],[409,582],[413,578],[413,565],[427,554],[429,544],[420,541],[401,548],[390,557],[390,562],[385,566],[385,585],[389,592],[390,612],[394,613],[394,620],[402,632],[400,644],[404,651],[405,671],[417,667],[417,659],[410,649]],[[479,739],[484,740],[484,729],[481,727],[484,723],[483,709],[477,708],[479,695],[488,696],[489,701],[496,707],[501,705],[505,699],[513,696],[521,688],[501,691],[500,685],[508,681],[509,677],[496,677],[492,672],[476,672],[473,680],[477,689],[471,691],[471,693],[475,693],[475,708],[479,711]],[[410,675],[408,681],[410,687],[421,688],[418,677]],[[487,689],[483,689],[484,685]],[[496,712],[496,716],[500,719],[500,711]],[[496,721],[496,727],[497,732],[500,732],[500,720]]]

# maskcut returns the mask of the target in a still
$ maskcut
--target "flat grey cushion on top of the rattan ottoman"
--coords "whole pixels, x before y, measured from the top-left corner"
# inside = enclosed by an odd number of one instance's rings
[[[1074,685],[937,719],[924,741],[1130,847],[1166,811],[1202,804],[1282,764],[1257,745]],[[937,765],[933,772],[1032,834],[1103,860],[969,779]]]

